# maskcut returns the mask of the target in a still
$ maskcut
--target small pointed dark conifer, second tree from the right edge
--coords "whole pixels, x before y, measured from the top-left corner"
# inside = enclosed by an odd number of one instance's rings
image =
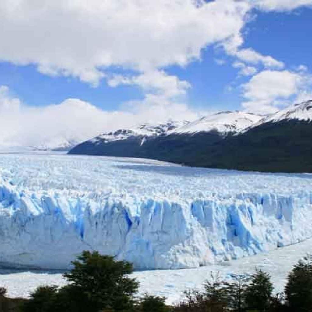
[[[256,270],[256,273],[251,275],[250,284],[246,287],[245,303],[249,309],[268,311],[272,292],[273,284],[270,275],[262,270]]]

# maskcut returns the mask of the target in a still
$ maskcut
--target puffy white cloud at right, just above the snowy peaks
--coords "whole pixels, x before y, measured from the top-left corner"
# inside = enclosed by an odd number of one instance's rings
[[[290,71],[262,71],[243,85],[244,109],[258,113],[272,113],[290,104],[292,97],[309,90],[311,76]]]

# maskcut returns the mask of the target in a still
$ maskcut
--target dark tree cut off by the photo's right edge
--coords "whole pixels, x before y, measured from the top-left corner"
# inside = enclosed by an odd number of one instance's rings
[[[311,311],[312,256],[299,261],[289,273],[285,286],[286,302],[291,311]]]

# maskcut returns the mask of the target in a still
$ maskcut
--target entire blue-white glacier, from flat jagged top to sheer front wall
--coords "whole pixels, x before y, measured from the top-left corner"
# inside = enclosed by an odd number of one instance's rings
[[[0,265],[67,269],[98,250],[136,269],[238,259],[312,236],[312,175],[152,160],[0,154]]]

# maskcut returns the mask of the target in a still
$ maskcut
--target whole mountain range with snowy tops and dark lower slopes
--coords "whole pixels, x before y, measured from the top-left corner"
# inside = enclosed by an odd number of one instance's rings
[[[188,166],[312,172],[312,100],[273,115],[227,111],[194,122],[120,129],[69,154],[153,158]]]

